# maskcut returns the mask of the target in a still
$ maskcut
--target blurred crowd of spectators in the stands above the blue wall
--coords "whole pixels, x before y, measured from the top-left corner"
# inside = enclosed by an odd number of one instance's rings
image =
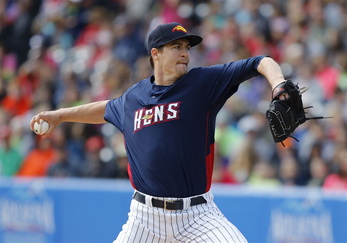
[[[217,117],[214,182],[347,188],[345,0],[1,0],[0,172],[5,176],[127,178],[123,135],[111,124],[61,123],[47,138],[41,111],[119,97],[153,74],[146,39],[181,23],[203,37],[189,68],[268,55],[310,86],[310,120],[285,147],[272,140],[262,76],[240,85]]]

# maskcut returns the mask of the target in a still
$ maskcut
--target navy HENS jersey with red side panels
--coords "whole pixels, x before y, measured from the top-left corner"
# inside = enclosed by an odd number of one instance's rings
[[[176,198],[209,191],[217,113],[240,83],[259,75],[264,57],[193,68],[169,86],[151,76],[107,103],[104,119],[124,134],[136,190]]]

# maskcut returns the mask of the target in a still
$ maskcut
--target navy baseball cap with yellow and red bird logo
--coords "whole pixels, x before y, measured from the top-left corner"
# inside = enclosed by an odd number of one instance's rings
[[[177,22],[161,24],[148,36],[147,53],[151,56],[152,48],[158,48],[170,41],[185,38],[191,43],[191,47],[202,42],[202,37],[198,35],[188,35],[187,30]]]

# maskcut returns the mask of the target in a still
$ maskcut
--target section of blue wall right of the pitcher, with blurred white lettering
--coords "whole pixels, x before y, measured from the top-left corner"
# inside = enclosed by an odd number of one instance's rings
[[[212,191],[248,242],[347,242],[347,191],[226,185]]]

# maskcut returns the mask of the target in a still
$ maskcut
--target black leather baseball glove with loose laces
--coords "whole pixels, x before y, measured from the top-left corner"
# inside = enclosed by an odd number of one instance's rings
[[[308,87],[306,86],[299,89],[299,86],[294,84],[291,80],[280,83],[273,89],[272,101],[269,110],[266,111],[266,118],[269,121],[270,131],[276,143],[281,142],[284,146],[282,141],[287,139],[287,137],[293,137],[290,136],[290,134],[306,120],[324,118],[306,118],[304,109],[311,108],[312,106],[303,107],[301,94],[307,90]],[[288,93],[289,98],[280,100],[279,96],[284,93]],[[297,140],[295,137],[293,138]]]

